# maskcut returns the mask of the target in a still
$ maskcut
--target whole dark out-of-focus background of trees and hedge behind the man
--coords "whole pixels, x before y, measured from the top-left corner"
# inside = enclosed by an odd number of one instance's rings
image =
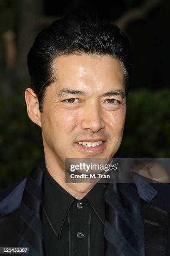
[[[135,76],[117,157],[170,157],[170,1],[0,0],[0,188],[25,178],[43,154],[27,115],[27,54],[34,38],[70,13],[97,13],[134,47]]]

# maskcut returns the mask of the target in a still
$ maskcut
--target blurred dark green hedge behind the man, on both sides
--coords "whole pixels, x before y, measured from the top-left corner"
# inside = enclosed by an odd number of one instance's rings
[[[170,156],[170,89],[133,90],[129,95],[118,156],[147,151]],[[30,121],[24,97],[0,97],[0,189],[20,182],[44,154],[41,128]]]

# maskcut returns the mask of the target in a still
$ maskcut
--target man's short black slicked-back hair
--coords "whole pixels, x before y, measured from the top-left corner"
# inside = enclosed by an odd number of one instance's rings
[[[55,82],[53,61],[67,54],[110,55],[121,61],[125,95],[133,77],[133,49],[129,38],[110,21],[95,14],[72,14],[55,20],[35,38],[28,53],[30,87],[42,112],[46,87]]]

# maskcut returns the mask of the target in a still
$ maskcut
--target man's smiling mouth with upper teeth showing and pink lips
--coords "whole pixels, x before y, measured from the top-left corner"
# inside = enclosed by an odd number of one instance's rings
[[[75,144],[80,150],[90,154],[102,153],[106,147],[106,141],[102,138],[96,140],[81,140],[77,141]]]

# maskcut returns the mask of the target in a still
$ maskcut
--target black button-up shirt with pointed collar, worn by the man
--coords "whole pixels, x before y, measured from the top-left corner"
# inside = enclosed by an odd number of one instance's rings
[[[105,184],[97,183],[77,200],[45,170],[42,223],[46,256],[104,255],[104,192]]]

